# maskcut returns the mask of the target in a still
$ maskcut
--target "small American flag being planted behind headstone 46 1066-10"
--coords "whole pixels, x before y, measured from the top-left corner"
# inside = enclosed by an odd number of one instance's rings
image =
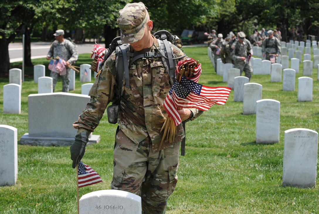
[[[80,161],[78,164],[78,187],[85,187],[100,182],[102,182],[100,175],[90,166]]]

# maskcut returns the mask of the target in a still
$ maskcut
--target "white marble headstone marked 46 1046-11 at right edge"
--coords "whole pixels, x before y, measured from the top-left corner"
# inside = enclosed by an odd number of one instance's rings
[[[318,132],[285,131],[282,185],[312,188],[316,185]]]

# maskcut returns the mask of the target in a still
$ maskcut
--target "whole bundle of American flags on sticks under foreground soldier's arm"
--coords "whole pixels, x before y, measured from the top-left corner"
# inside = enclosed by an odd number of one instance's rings
[[[214,104],[224,105],[226,103],[231,88],[198,84],[201,71],[201,64],[192,58],[187,58],[177,64],[175,83],[164,101],[168,117],[160,131],[164,131],[162,142],[165,137],[170,142],[174,141],[176,126],[182,122],[178,110],[197,108],[207,111]]]

